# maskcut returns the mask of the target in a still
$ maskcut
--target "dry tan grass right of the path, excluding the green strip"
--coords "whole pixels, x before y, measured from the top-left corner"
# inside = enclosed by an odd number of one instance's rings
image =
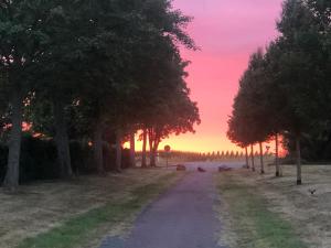
[[[284,176],[274,176],[274,166],[268,166],[265,175],[239,170],[226,175],[218,175],[225,184],[231,179],[246,188],[252,197],[258,196],[265,201],[265,208],[275,213],[295,229],[295,235],[311,248],[331,247],[331,166],[305,165],[302,168],[303,184],[296,185],[296,168],[282,166]],[[310,190],[317,190],[311,195]],[[249,201],[249,198],[247,200]],[[223,204],[222,213],[232,208],[231,202]],[[245,203],[243,203],[245,204]],[[222,215],[225,220],[227,244],[235,244],[238,234],[235,230],[236,219],[233,216]],[[249,226],[249,224],[247,224]],[[255,231],[254,228],[250,228]],[[250,234],[252,235],[252,234]],[[239,246],[232,246],[239,247]],[[261,246],[263,247],[263,246]],[[281,247],[285,248],[285,247]]]

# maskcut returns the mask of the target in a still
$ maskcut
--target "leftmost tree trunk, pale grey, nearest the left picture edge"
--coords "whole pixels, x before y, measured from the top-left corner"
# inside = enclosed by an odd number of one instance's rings
[[[20,176],[20,154],[22,141],[22,96],[20,90],[12,95],[12,127],[9,139],[9,154],[7,163],[7,173],[3,186],[10,191],[15,191],[19,186]]]

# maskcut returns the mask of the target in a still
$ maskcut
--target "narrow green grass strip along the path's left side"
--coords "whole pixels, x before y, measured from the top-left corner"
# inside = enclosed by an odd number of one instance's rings
[[[73,217],[53,229],[24,239],[18,248],[74,248],[95,238],[95,229],[105,224],[116,225],[137,214],[152,198],[173,182],[175,173],[162,176],[158,182],[135,188],[130,197],[119,203],[108,203],[85,214]],[[106,235],[106,234],[105,234]]]

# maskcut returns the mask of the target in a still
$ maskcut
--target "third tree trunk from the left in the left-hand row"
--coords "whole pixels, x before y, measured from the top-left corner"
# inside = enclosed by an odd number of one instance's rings
[[[98,120],[93,133],[93,157],[98,174],[105,174],[103,152],[103,123]]]

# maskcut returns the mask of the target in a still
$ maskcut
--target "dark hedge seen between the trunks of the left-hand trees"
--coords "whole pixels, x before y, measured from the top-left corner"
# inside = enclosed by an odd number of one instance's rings
[[[93,163],[93,150],[86,142],[71,141],[72,168],[75,174],[96,172]],[[20,158],[20,183],[36,180],[60,179],[60,168],[56,161],[56,145],[53,140],[42,140],[30,134],[22,138]],[[8,147],[0,143],[0,184],[6,175]],[[106,171],[115,170],[116,150],[104,145],[104,165]],[[129,150],[122,151],[122,169],[130,164]]]

